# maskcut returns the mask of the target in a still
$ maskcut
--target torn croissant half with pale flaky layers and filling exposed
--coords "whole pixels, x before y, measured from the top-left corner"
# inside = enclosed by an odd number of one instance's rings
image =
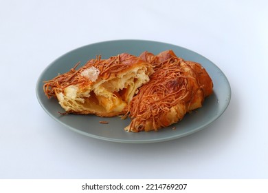
[[[55,97],[66,113],[116,116],[126,107],[137,89],[149,81],[153,66],[131,54],[109,59],[91,59],[82,68],[77,65],[65,74],[45,81],[48,98]]]

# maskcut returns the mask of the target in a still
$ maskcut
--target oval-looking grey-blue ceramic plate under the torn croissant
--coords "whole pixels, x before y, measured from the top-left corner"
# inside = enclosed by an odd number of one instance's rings
[[[178,57],[201,63],[210,74],[214,83],[214,93],[205,99],[203,107],[191,114],[186,114],[179,123],[170,125],[158,132],[133,133],[124,131],[126,125],[130,123],[129,119],[121,120],[119,117],[102,118],[95,115],[60,115],[58,112],[64,112],[64,110],[60,107],[58,101],[56,99],[47,99],[43,92],[43,81],[56,77],[58,73],[62,74],[69,71],[78,61],[81,62],[80,66],[82,66],[89,59],[95,59],[96,55],[102,55],[102,59],[108,59],[122,52],[128,52],[129,54],[138,56],[145,50],[153,52],[153,54],[158,54],[164,50],[173,50]],[[210,125],[223,114],[227,105],[230,103],[231,89],[223,72],[214,63],[196,52],[168,43],[118,40],[86,45],[56,59],[47,66],[39,77],[36,84],[36,96],[49,116],[52,116],[53,119],[75,132],[107,141],[153,143],[177,139]],[[102,124],[99,121],[108,121],[109,123]],[[174,128],[176,129],[174,130]]]

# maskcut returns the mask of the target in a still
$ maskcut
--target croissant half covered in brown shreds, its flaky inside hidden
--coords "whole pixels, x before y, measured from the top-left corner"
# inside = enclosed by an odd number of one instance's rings
[[[184,61],[172,50],[156,56],[143,52],[139,57],[151,63],[155,72],[129,104],[131,123],[125,130],[157,131],[177,123],[212,94],[212,79],[199,63]]]

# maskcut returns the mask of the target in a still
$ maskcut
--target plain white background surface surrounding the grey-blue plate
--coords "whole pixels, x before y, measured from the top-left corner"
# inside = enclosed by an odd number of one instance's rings
[[[0,0],[0,179],[267,179],[267,1]],[[43,70],[82,45],[144,39],[216,63],[232,87],[225,113],[181,139],[91,139],[36,99]]]

